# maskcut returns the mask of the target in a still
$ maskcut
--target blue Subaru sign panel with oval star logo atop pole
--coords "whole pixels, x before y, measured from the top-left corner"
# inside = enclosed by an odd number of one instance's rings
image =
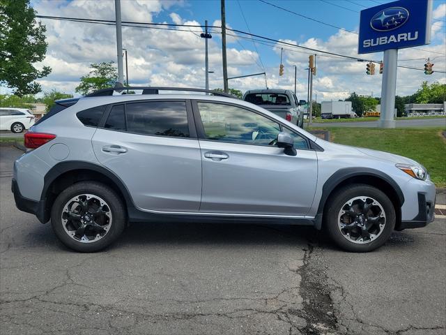
[[[432,0],[400,0],[361,10],[358,53],[429,44]]]

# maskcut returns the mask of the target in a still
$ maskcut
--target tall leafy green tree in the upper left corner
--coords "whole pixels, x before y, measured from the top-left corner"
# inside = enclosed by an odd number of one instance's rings
[[[0,0],[0,84],[14,94],[36,94],[42,89],[34,80],[45,77],[51,68],[37,70],[33,64],[45,59],[46,28],[36,21],[30,0]]]

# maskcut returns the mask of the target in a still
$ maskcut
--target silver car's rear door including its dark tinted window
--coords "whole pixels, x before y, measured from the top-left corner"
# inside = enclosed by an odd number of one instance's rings
[[[139,209],[199,211],[201,154],[190,101],[112,105],[92,142],[100,163],[121,178]]]

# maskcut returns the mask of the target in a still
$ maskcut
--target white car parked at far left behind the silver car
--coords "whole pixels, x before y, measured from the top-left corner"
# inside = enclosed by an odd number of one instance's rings
[[[26,108],[0,107],[0,131],[22,133],[35,121],[36,117]]]

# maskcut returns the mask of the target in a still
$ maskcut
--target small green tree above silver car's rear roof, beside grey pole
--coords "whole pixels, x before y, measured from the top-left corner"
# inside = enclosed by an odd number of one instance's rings
[[[98,89],[114,87],[118,81],[118,71],[113,61],[93,63],[90,68],[90,73],[81,77],[81,83],[75,89],[77,93],[86,96]]]

